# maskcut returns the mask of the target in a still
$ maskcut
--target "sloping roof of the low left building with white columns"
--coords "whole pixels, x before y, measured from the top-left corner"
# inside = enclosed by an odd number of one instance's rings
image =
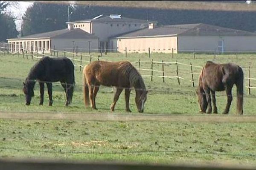
[[[33,35],[28,35],[25,37],[20,37],[20,38],[10,38],[7,40],[23,40],[23,39],[42,39],[42,38],[63,38],[63,39],[69,39],[69,38],[74,38],[74,39],[86,39],[86,38],[98,38],[93,34],[89,34],[86,31],[81,30],[80,28],[76,29],[61,29],[61,30],[56,30],[56,31],[50,31],[50,32],[44,32],[40,34],[33,34]]]

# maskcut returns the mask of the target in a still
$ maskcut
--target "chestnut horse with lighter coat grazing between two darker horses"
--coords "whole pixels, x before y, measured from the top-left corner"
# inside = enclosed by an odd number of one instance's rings
[[[134,87],[136,92],[135,102],[138,112],[143,113],[148,91],[146,91],[143,78],[130,62],[94,61],[85,65],[83,69],[83,94],[85,106],[89,105],[90,96],[91,108],[96,109],[95,98],[100,85],[116,87],[116,94],[113,103],[110,106],[111,111],[114,111],[116,101],[122,90],[125,89],[125,108],[126,111],[131,112],[129,108],[129,99],[131,87]]]

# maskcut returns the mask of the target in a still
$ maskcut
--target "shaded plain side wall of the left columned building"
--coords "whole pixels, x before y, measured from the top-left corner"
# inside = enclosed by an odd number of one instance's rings
[[[66,50],[66,51],[72,51],[72,41],[74,41],[74,47],[76,49],[76,46],[78,46],[78,51],[79,52],[87,52],[89,48],[89,43],[90,41],[90,49],[91,51],[96,51],[99,48],[99,41],[98,39],[52,39],[52,48],[56,50]],[[83,48],[83,49],[79,49]],[[85,49],[84,49],[85,48]]]

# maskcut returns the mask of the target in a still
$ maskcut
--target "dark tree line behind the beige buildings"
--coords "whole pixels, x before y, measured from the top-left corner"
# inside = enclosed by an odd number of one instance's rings
[[[0,2],[5,2],[0,3],[0,11],[4,11],[8,1]],[[256,12],[70,6],[70,13],[72,13],[70,21],[91,19],[100,14],[121,14],[123,17],[154,20],[159,25],[205,23],[244,31],[256,31]],[[22,19],[21,36],[64,29],[67,27],[67,5],[34,3],[27,8]],[[0,28],[0,41],[17,37],[14,18],[11,15],[0,13]]]

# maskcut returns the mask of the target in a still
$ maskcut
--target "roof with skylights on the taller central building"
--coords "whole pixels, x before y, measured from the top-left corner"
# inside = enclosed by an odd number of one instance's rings
[[[93,23],[111,23],[111,22],[120,22],[120,23],[157,23],[157,21],[147,21],[147,20],[138,20],[138,19],[133,19],[133,18],[127,18],[127,17],[122,17],[119,15],[120,18],[113,18],[111,15],[108,16],[103,16],[99,15],[97,17],[94,17],[92,19],[88,20],[79,20],[79,21],[73,21],[73,22],[67,22],[67,23],[83,23],[83,22],[93,22]]]

